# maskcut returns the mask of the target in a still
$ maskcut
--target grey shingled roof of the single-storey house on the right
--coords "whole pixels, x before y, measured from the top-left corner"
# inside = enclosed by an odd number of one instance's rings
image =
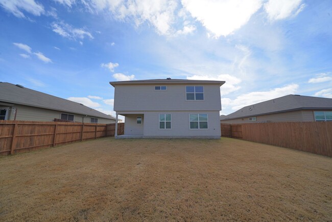
[[[312,96],[288,95],[245,106],[232,114],[223,117],[220,116],[220,120],[283,113],[300,109],[332,109],[332,99]]]

